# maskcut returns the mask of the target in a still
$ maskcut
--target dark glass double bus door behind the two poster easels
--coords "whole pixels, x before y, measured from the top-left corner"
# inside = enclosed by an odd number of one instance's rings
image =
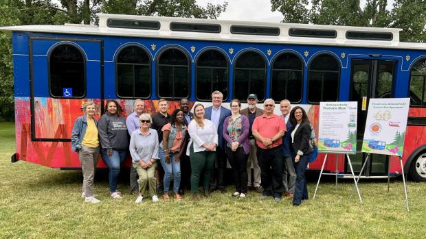
[[[394,96],[395,60],[351,61],[350,101],[358,102],[357,118],[357,154],[352,161],[354,171],[361,171],[366,153],[361,153],[368,103],[370,98],[392,98]],[[350,168],[346,165],[346,172]],[[388,156],[370,154],[370,163],[364,169],[366,176],[388,175]]]

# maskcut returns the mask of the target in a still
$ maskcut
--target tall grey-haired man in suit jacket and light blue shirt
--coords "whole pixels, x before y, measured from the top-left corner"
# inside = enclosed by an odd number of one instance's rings
[[[231,115],[231,110],[222,106],[223,94],[216,90],[212,93],[213,106],[205,108],[205,118],[214,123],[217,128],[219,145],[216,147],[217,171],[212,173],[210,179],[210,191],[221,190],[225,192],[225,171],[226,171],[226,154],[225,139],[223,138],[223,121],[227,116]]]

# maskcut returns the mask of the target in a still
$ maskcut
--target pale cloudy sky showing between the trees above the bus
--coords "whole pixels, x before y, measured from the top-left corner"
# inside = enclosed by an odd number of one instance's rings
[[[201,6],[212,4],[223,4],[225,0],[197,0],[197,4]],[[276,22],[282,21],[281,12],[271,11],[270,0],[226,0],[228,5],[226,11],[218,17],[220,20],[238,20],[238,21],[265,21]],[[364,5],[366,0],[361,0]],[[394,0],[388,0],[388,9],[392,8]]]

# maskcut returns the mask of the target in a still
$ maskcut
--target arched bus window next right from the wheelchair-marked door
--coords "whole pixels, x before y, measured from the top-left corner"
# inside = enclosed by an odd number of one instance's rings
[[[122,98],[150,97],[150,59],[144,49],[124,47],[116,60],[117,96]]]

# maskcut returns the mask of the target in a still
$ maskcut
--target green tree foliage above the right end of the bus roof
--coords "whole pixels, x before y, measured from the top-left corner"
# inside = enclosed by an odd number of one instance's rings
[[[271,0],[286,23],[402,28],[400,40],[426,42],[426,1],[395,0]],[[311,5],[310,5],[311,3]]]

